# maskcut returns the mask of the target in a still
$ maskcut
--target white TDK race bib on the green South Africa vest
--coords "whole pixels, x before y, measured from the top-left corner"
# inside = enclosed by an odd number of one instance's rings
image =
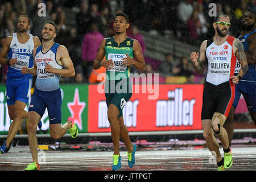
[[[108,60],[112,59],[112,62],[114,64],[114,67],[112,69],[110,69],[109,71],[125,72],[127,67],[123,66],[123,61],[122,61],[122,59],[125,57],[126,57],[125,54],[109,53]]]

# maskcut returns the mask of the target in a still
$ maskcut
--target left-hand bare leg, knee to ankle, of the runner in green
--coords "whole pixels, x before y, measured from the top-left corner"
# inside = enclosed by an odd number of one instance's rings
[[[110,104],[108,107],[108,120],[111,127],[111,136],[114,144],[114,155],[120,155],[119,153],[119,141],[120,141],[120,126],[118,121],[119,110],[114,104]]]

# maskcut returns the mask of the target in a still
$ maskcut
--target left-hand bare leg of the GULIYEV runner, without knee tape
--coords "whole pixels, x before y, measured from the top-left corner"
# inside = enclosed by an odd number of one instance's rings
[[[222,159],[220,150],[219,150],[220,146],[216,138],[214,137],[214,133],[212,130],[212,120],[211,119],[202,120],[202,126],[204,130],[204,139],[205,139],[205,142],[207,143],[207,147],[209,151],[216,152],[216,158],[217,158],[216,161],[220,162]]]

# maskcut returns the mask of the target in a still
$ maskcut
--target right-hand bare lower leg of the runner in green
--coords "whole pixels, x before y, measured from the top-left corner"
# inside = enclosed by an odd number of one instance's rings
[[[128,153],[131,153],[131,152],[133,152],[133,144],[131,143],[131,140],[129,137],[129,132],[123,122],[122,116],[118,118],[118,122],[119,122],[119,126],[120,126],[120,137],[122,138],[123,143],[125,143]]]

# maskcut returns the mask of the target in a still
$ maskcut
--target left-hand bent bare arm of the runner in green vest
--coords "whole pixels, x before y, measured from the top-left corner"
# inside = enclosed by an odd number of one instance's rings
[[[93,61],[93,69],[99,69],[101,66],[106,69],[114,67],[112,60],[103,60],[105,56],[105,43],[106,39],[103,39],[101,41],[100,48],[98,48],[96,58]]]

